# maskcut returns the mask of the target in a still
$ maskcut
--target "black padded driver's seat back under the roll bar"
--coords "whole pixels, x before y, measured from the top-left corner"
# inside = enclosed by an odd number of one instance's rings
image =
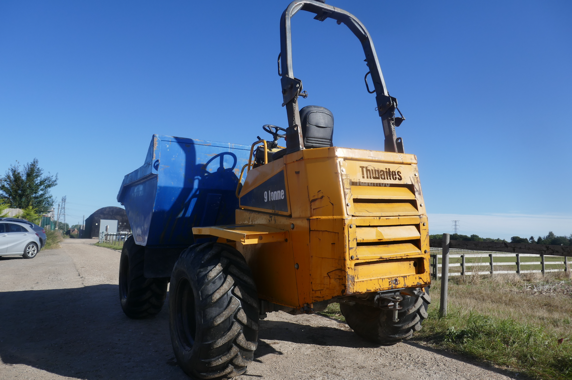
[[[319,106],[305,106],[300,110],[304,147],[322,148],[333,146],[333,114]]]

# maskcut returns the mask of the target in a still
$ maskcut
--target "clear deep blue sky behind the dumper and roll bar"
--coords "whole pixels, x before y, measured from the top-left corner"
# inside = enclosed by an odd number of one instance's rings
[[[572,3],[328,1],[370,31],[431,233],[572,233]],[[38,158],[67,221],[118,205],[153,133],[251,144],[285,125],[287,1],[0,3],[0,173]],[[383,149],[358,40],[293,18],[294,73],[336,146]]]

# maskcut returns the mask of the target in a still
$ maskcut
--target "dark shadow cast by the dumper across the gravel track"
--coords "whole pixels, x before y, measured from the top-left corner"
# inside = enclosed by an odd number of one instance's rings
[[[166,307],[154,318],[129,319],[117,285],[2,292],[0,305],[0,358],[6,365],[88,380],[188,379],[174,359]],[[261,321],[260,327],[265,341],[370,346],[352,331],[333,327],[285,321]],[[281,354],[260,341],[255,360]]]

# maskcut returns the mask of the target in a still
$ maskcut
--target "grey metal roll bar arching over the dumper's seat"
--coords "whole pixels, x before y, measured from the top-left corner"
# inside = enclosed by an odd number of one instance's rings
[[[302,137],[300,110],[298,107],[298,97],[306,97],[307,94],[302,93],[302,81],[294,77],[292,67],[292,31],[291,18],[299,10],[305,10],[315,13],[314,19],[324,21],[332,18],[340,25],[344,23],[349,30],[358,37],[362,43],[363,51],[366,54],[367,66],[370,70],[371,79],[374,82],[374,91],[368,91],[376,94],[375,100],[379,116],[382,118],[383,133],[385,136],[385,151],[404,153],[403,141],[395,135],[395,109],[397,108],[397,99],[390,97],[387,93],[386,82],[383,79],[382,69],[379,66],[378,55],[375,53],[374,42],[363,24],[352,14],[327,5],[315,0],[295,0],[288,5],[280,18],[280,55],[279,55],[279,75],[282,85],[282,95],[284,98],[283,106],[286,106],[288,115],[288,128],[286,131],[287,153],[304,148],[304,139]],[[280,67],[281,66],[281,67]],[[367,74],[366,74],[367,77]],[[367,81],[366,81],[367,84]],[[403,121],[401,118],[398,125]]]

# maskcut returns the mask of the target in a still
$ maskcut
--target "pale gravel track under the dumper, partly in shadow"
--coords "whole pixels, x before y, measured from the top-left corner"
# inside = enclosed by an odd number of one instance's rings
[[[0,257],[0,379],[182,379],[166,307],[125,317],[120,254],[66,239],[34,259]],[[378,347],[319,315],[268,314],[252,379],[509,379],[415,343]],[[518,378],[518,377],[517,377]]]

